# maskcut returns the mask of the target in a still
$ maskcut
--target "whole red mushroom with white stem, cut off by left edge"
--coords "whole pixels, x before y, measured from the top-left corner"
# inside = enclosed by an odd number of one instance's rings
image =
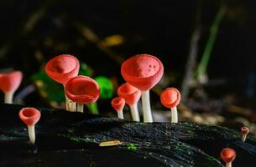
[[[0,76],[0,89],[4,93],[4,103],[13,104],[13,94],[18,89],[23,75],[20,71],[2,73]]]

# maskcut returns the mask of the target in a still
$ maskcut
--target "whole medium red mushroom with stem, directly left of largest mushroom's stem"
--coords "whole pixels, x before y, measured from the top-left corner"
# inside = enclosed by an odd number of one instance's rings
[[[138,100],[141,97],[140,90],[130,83],[123,83],[118,88],[118,96],[125,99],[125,103],[130,107],[133,120],[139,122]]]

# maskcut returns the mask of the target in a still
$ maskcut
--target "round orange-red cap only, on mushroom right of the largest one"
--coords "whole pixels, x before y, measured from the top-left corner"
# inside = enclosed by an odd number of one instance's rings
[[[174,108],[180,103],[180,91],[175,88],[165,89],[161,94],[161,103],[167,108]]]

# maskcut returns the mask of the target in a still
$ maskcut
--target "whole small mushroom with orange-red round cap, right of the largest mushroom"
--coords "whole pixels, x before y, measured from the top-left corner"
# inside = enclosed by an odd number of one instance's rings
[[[161,103],[171,110],[171,123],[178,123],[177,105],[180,103],[180,92],[175,88],[165,89],[161,94]]]

